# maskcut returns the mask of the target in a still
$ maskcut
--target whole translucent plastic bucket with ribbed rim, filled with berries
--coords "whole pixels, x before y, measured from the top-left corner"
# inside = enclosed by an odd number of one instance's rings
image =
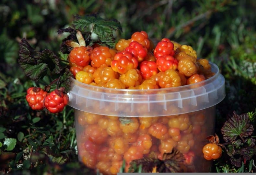
[[[209,172],[202,148],[214,134],[215,106],[225,97],[225,79],[152,90],[109,89],[72,79],[69,105],[75,108],[78,158],[103,174],[116,174],[132,159],[162,158],[179,150],[185,172]]]

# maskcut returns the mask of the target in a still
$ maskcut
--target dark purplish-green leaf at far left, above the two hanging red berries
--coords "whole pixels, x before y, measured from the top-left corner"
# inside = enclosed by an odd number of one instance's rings
[[[62,70],[60,59],[48,49],[35,51],[23,38],[20,42],[19,65],[25,74],[33,81],[38,81],[47,74],[58,74]]]

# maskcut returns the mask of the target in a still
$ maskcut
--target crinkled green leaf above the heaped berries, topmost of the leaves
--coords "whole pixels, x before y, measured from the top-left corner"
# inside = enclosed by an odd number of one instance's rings
[[[110,47],[113,47],[115,43],[113,32],[118,30],[122,32],[119,21],[116,19],[103,19],[98,14],[76,16],[73,25],[81,32],[86,32],[91,27],[90,31],[98,35],[100,43]]]

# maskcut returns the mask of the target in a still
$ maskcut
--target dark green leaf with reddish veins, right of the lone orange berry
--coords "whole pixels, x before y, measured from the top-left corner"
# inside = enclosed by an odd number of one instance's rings
[[[221,128],[221,133],[226,142],[234,141],[239,137],[248,137],[253,133],[253,125],[250,124],[248,114],[237,115],[235,112]]]

